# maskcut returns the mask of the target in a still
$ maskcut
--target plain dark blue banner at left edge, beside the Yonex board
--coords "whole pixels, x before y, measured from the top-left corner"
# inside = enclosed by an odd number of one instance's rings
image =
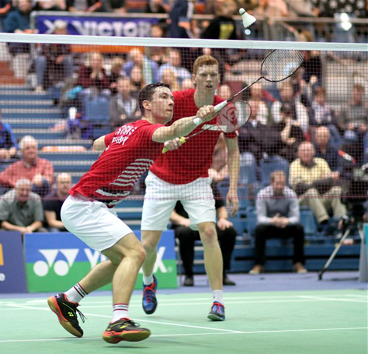
[[[25,292],[22,235],[0,231],[0,293]]]

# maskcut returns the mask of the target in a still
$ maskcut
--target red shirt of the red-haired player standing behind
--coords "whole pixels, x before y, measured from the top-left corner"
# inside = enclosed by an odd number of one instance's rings
[[[198,107],[194,102],[195,89],[174,92],[174,114],[169,124],[183,117],[195,116]],[[218,96],[214,97],[213,105],[222,102]],[[216,124],[216,118],[199,125],[191,134],[205,128],[207,124]],[[208,177],[208,168],[212,163],[213,149],[221,131],[205,130],[201,134],[189,139],[177,150],[168,151],[160,155],[150,170],[161,180],[181,185],[195,181],[201,177]],[[190,135],[191,135],[190,134]],[[225,134],[226,138],[235,138],[236,134]]]

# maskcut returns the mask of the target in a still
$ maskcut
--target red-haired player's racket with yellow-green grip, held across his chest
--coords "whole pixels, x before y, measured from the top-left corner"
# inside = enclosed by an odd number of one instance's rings
[[[248,121],[251,114],[252,109],[250,108],[248,102],[246,101],[231,102],[229,104],[224,105],[221,108],[221,111],[216,116],[216,124],[208,124],[208,126],[206,126],[204,129],[197,131],[188,137],[181,137],[180,142],[183,144],[188,139],[191,139],[196,135],[201,134],[201,132],[205,130],[217,130],[225,133],[234,132]],[[167,151],[168,149],[166,147],[162,149],[163,154]]]

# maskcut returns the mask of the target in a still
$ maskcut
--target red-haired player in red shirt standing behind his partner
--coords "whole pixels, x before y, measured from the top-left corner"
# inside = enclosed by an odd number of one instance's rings
[[[215,96],[219,83],[218,62],[209,55],[196,59],[193,66],[193,81],[196,89],[174,92],[174,115],[193,115],[197,107],[216,105],[223,100]],[[216,120],[209,122],[215,124]],[[205,129],[208,124],[198,126],[194,132]],[[163,230],[167,229],[169,217],[180,200],[189,214],[191,228],[198,230],[204,247],[205,269],[213,294],[213,303],[208,314],[212,321],[225,319],[222,297],[222,256],[215,228],[216,210],[212,195],[208,168],[220,131],[208,129],[191,138],[177,150],[162,154],[155,160],[146,178],[146,194],[142,213],[142,244],[147,257],[143,263],[143,309],[153,314],[157,307],[157,279],[153,268],[157,255],[157,244]],[[231,214],[238,210],[239,149],[235,132],[225,134],[229,170],[229,192],[226,206],[232,203]],[[180,143],[179,143],[180,145]]]

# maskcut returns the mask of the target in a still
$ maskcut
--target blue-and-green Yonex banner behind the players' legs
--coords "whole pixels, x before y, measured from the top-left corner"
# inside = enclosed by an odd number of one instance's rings
[[[140,238],[141,232],[134,231]],[[25,235],[28,291],[64,291],[107,258],[69,232]],[[157,246],[154,273],[161,288],[177,288],[174,233],[164,231]],[[142,287],[139,276],[135,289]],[[111,287],[109,287],[111,288]]]

